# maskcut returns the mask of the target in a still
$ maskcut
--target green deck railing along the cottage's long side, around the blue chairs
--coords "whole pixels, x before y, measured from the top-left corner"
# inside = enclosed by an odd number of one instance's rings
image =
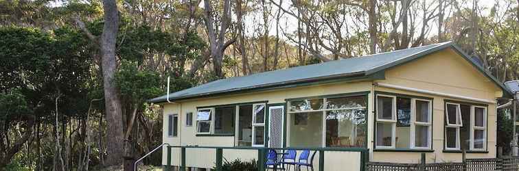
[[[277,168],[266,168],[266,154],[268,153],[268,150],[310,150],[310,151],[316,151],[317,154],[319,154],[319,158],[317,159],[319,161],[319,168],[317,170],[324,171],[325,168],[325,153],[327,152],[353,152],[353,153],[360,153],[360,163],[359,168],[360,171],[365,170],[365,166],[367,161],[369,161],[369,149],[368,148],[266,148],[266,147],[225,147],[225,146],[167,146],[167,161],[165,170],[172,170],[172,149],[173,148],[179,148],[180,149],[180,163],[179,163],[179,170],[180,171],[186,171],[186,157],[189,156],[188,153],[186,153],[186,149],[189,148],[195,148],[195,149],[214,149],[215,150],[215,161],[214,166],[216,168],[216,171],[222,170],[222,163],[223,163],[223,150],[251,150],[257,152],[257,166],[258,171],[264,171],[266,169],[270,170],[277,170]],[[345,158],[348,159],[348,158]],[[340,164],[340,163],[338,163]]]

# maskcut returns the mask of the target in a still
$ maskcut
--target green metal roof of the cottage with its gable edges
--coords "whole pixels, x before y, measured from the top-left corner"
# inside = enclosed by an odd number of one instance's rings
[[[246,75],[243,77],[231,77],[202,84],[170,94],[170,101],[179,101],[188,98],[200,98],[216,96],[236,92],[248,92],[252,90],[271,90],[275,88],[286,88],[287,86],[301,85],[301,83],[316,83],[319,81],[344,80],[344,79],[381,79],[378,73],[387,68],[404,64],[412,60],[440,51],[452,48],[478,68],[483,75],[492,79],[503,92],[509,95],[502,83],[499,83],[491,74],[487,73],[481,66],[476,64],[472,58],[466,55],[452,42],[430,44],[422,47],[413,47],[386,53],[377,53],[362,57],[351,57],[343,60],[334,60],[321,64],[297,66],[283,70],[273,70],[264,73]],[[159,96],[149,101],[161,103],[167,101],[167,96]]]

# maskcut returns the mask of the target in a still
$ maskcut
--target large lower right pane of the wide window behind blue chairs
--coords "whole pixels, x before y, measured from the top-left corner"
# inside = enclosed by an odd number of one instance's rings
[[[326,112],[327,147],[364,147],[365,109]]]

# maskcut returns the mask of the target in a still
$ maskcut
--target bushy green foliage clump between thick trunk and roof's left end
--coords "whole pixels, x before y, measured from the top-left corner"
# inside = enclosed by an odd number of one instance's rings
[[[121,95],[137,103],[159,96],[163,92],[160,88],[159,73],[139,70],[136,62],[128,60],[122,60],[119,70],[115,73],[115,81]]]

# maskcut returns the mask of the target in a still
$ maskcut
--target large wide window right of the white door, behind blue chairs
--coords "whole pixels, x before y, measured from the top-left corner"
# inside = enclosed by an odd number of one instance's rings
[[[288,105],[289,146],[366,146],[365,95],[309,98]]]

